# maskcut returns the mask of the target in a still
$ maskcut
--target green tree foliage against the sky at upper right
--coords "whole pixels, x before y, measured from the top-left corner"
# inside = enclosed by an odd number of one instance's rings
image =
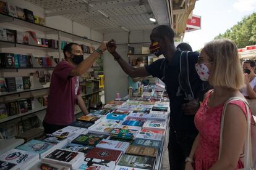
[[[245,16],[232,28],[223,34],[218,34],[214,39],[227,38],[233,40],[238,48],[256,44],[256,13]]]

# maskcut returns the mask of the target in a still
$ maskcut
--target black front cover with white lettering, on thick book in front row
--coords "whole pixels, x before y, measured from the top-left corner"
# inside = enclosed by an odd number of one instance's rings
[[[46,158],[58,160],[58,161],[70,162],[78,154],[79,153],[77,153],[77,152],[70,152],[68,150],[56,149],[53,152],[51,152],[49,155],[47,155]]]

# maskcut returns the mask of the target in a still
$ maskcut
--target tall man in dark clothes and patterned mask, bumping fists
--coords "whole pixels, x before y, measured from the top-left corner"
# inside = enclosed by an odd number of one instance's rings
[[[170,134],[169,134],[169,163],[172,170],[183,170],[185,158],[189,156],[190,148],[197,136],[197,129],[194,125],[194,115],[196,110],[182,110],[182,104],[188,102],[185,100],[184,92],[179,94],[179,59],[182,52],[174,46],[174,31],[168,25],[159,25],[154,28],[150,34],[150,51],[157,57],[164,55],[164,59],[158,59],[147,67],[134,68],[127,63],[116,52],[116,42],[111,40],[107,47],[110,54],[113,55],[124,72],[131,76],[146,77],[152,75],[160,78],[166,84],[166,92],[170,99]],[[195,71],[198,52],[189,53],[189,72],[192,82],[191,89],[195,99],[198,98],[198,92],[202,89],[202,81]],[[199,107],[199,103],[197,102]]]

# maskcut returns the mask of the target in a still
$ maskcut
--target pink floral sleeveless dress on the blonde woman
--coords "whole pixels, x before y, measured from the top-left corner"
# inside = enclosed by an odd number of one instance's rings
[[[224,104],[217,107],[208,107],[207,102],[211,92],[203,100],[201,107],[195,115],[195,126],[197,127],[200,139],[195,151],[195,169],[207,170],[218,161],[220,148],[220,125]],[[245,104],[234,100],[230,104],[237,105],[246,116]],[[237,160],[237,168],[243,168],[242,161]]]

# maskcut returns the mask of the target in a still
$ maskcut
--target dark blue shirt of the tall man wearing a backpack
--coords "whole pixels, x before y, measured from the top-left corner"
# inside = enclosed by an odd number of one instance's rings
[[[194,98],[198,99],[198,94],[202,89],[202,81],[197,75],[195,70],[195,63],[197,63],[198,52],[189,52],[189,78],[190,86],[194,92]],[[185,95],[181,90],[180,95],[177,95],[179,87],[179,59],[181,57],[181,51],[177,50],[171,62],[166,59],[158,59],[146,67],[150,75],[160,78],[166,85],[166,92],[170,99],[170,127],[171,131],[177,131],[187,134],[197,134],[197,129],[194,124],[194,115],[184,115],[181,106],[183,103],[188,102],[184,100]]]

